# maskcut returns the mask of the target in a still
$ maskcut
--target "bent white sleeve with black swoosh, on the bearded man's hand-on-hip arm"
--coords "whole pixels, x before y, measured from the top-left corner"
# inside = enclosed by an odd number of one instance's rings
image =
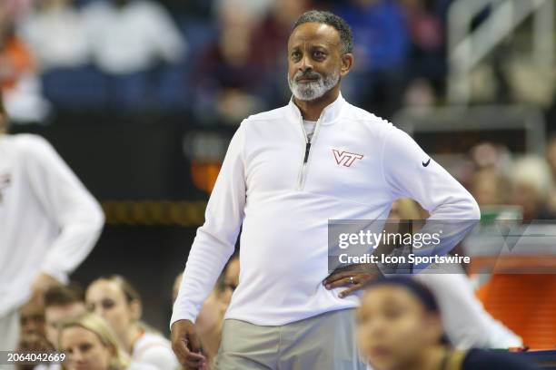
[[[411,198],[429,211],[420,233],[440,231],[440,243],[414,248],[416,256],[446,255],[481,218],[477,202],[462,184],[395,127],[383,141],[382,175],[392,200]]]

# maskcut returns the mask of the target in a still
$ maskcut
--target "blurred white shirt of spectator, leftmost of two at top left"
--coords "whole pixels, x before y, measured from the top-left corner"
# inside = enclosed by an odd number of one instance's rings
[[[72,68],[88,63],[87,37],[74,0],[44,0],[27,15],[21,33],[41,71]]]

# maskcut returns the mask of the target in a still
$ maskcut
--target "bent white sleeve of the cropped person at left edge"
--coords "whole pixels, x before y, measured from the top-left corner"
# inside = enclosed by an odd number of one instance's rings
[[[94,248],[104,226],[104,213],[48,141],[40,137],[28,140],[25,170],[31,189],[60,229],[41,271],[66,283]]]

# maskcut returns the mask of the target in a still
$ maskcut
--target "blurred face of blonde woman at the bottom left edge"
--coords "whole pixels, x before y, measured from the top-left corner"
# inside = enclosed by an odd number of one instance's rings
[[[68,370],[109,370],[114,350],[81,326],[66,327],[60,335],[60,347],[67,355]]]

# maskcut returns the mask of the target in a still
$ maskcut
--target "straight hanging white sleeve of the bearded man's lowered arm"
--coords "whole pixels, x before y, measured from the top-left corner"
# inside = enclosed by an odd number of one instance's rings
[[[204,225],[197,229],[170,327],[182,319],[195,321],[204,299],[233,254],[246,197],[243,142],[244,122],[233,135],[205,210]]]

